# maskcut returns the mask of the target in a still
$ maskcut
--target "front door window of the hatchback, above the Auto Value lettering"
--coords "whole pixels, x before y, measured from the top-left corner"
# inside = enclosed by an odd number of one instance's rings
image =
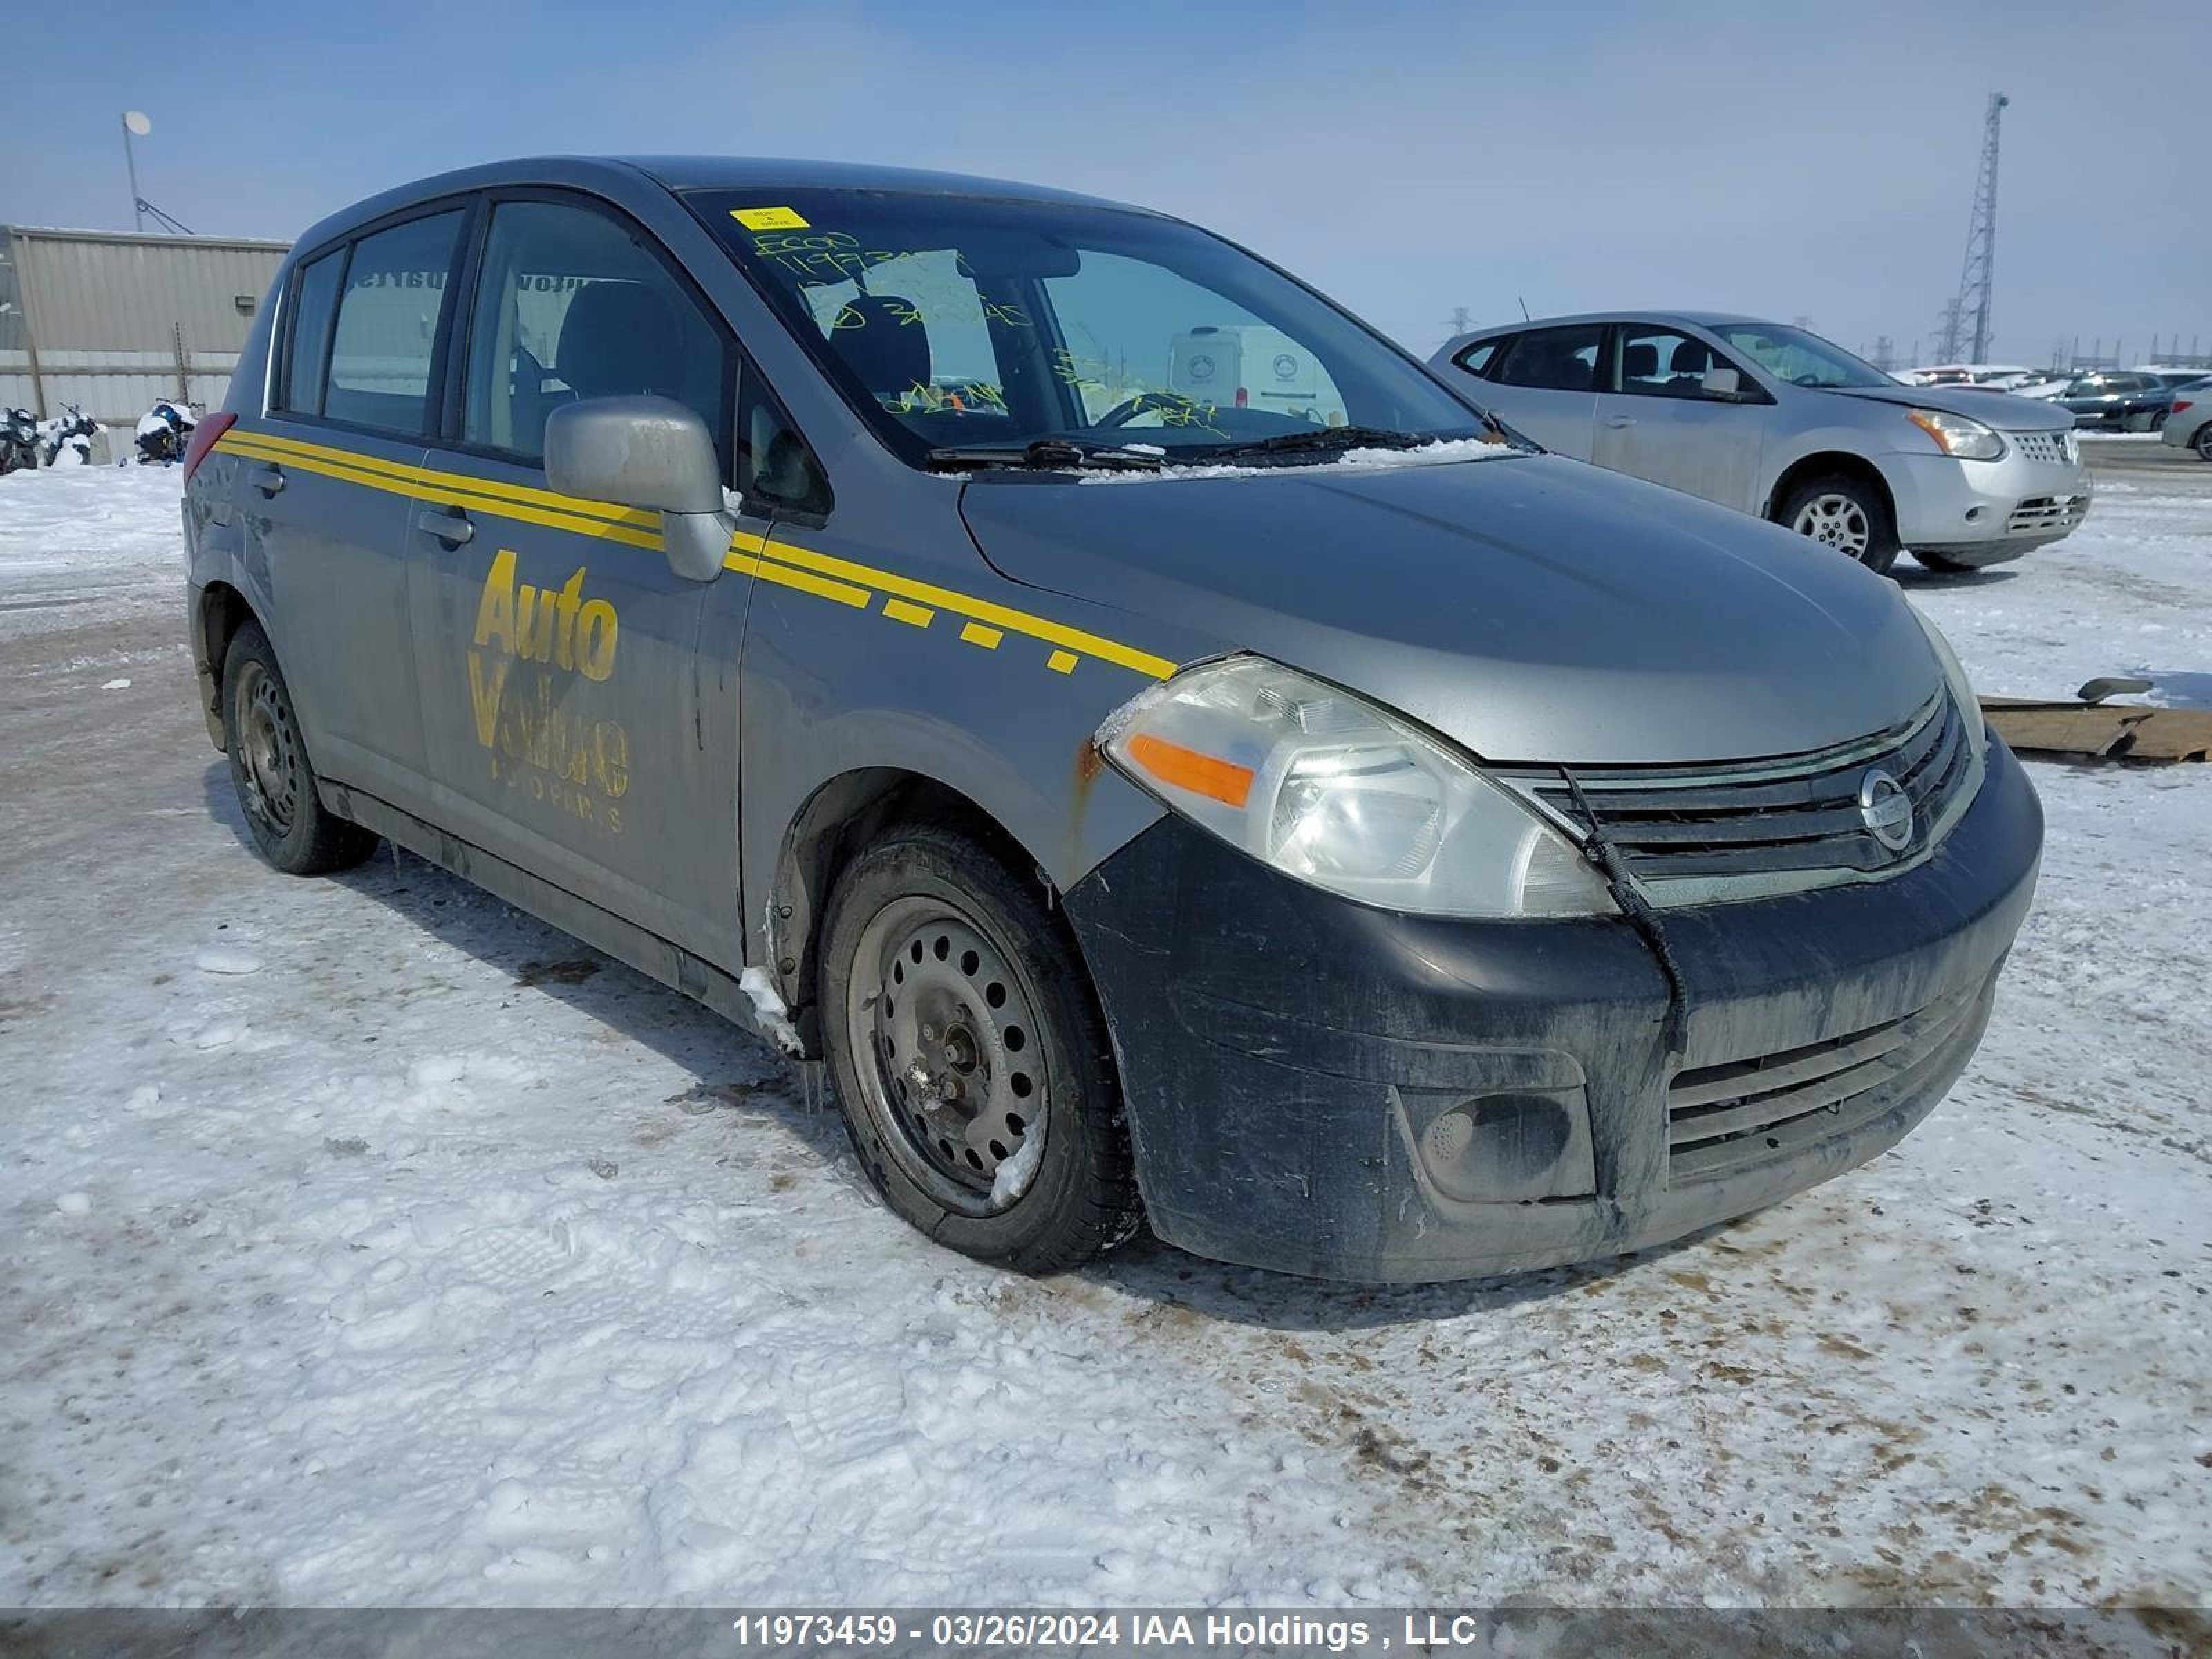
[[[535,462],[557,407],[635,392],[697,409],[728,462],[728,352],[668,268],[602,212],[502,201],[469,321],[462,438]]]

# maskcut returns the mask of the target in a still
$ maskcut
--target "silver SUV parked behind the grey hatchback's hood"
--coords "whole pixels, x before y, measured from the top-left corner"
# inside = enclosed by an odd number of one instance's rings
[[[1460,334],[1431,365],[1546,449],[1770,518],[1874,571],[1900,549],[1938,571],[2002,564],[2088,515],[2066,409],[1898,385],[1783,323],[1559,316]]]

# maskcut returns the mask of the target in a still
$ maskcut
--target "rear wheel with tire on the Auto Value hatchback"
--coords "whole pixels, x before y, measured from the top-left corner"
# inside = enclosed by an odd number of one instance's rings
[[[241,626],[223,655],[223,748],[246,830],[276,869],[323,876],[376,852],[372,832],[330,812],[316,794],[292,692],[259,622]]]

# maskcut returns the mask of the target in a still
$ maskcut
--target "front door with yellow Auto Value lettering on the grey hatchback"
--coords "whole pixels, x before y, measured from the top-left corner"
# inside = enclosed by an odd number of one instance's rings
[[[734,456],[737,349],[655,237],[591,197],[489,201],[445,434],[409,522],[438,821],[739,960],[743,580],[668,568],[659,515],[557,495],[553,409],[650,392]],[[765,535],[765,515],[741,515]],[[701,644],[706,641],[706,653]]]

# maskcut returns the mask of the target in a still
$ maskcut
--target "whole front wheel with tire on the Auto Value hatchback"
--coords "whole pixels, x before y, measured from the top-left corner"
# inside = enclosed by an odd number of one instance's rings
[[[869,845],[830,900],[818,993],[852,1150],[900,1217],[1029,1274],[1137,1230],[1091,978],[982,843],[918,825]]]

